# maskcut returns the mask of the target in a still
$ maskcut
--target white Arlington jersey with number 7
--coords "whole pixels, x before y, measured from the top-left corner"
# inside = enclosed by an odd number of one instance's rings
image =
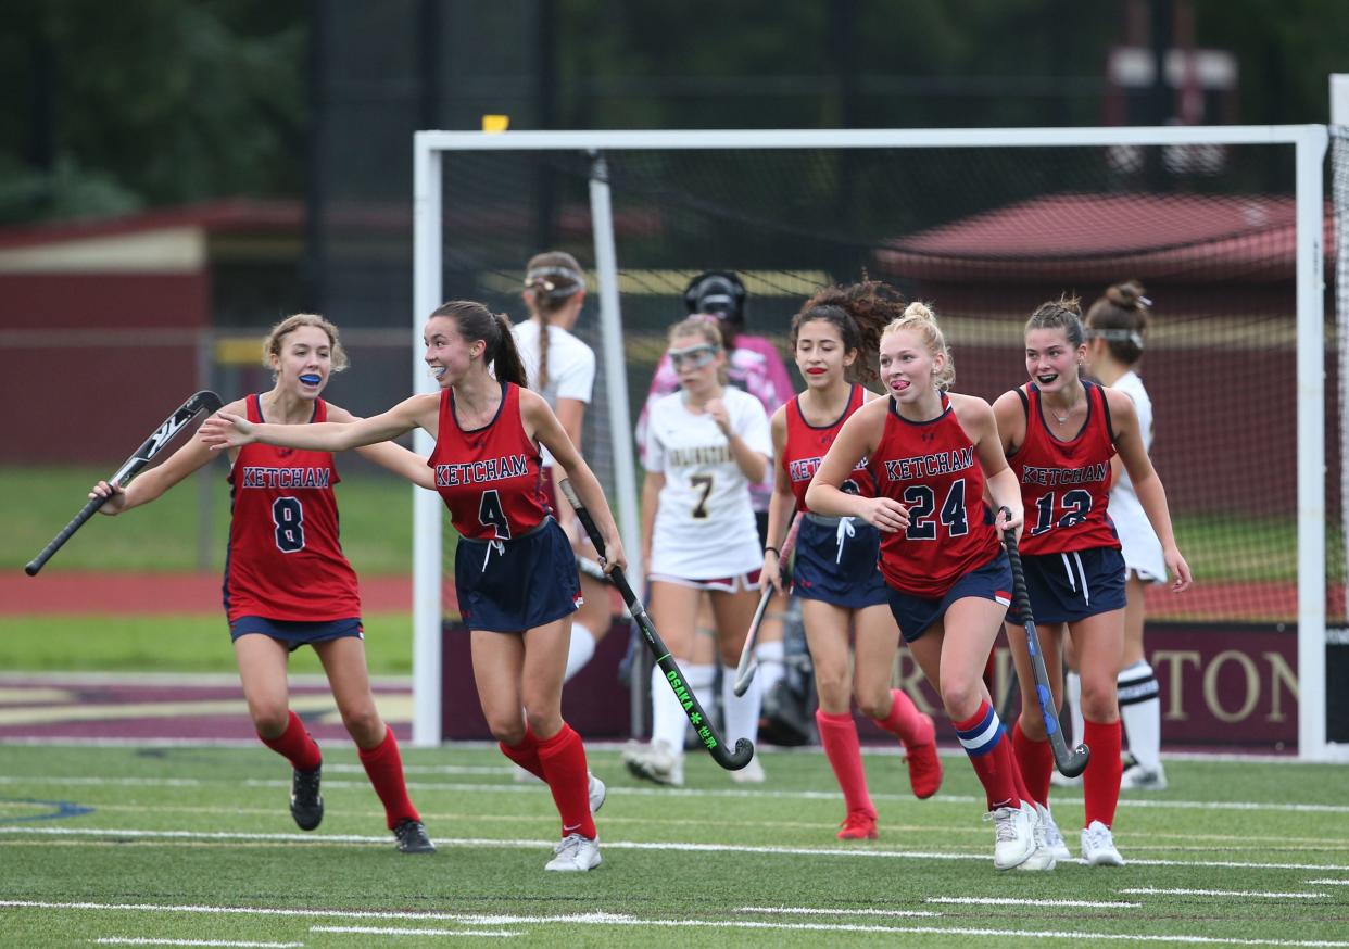
[[[759,400],[730,387],[722,400],[731,431],[772,461],[773,439]],[[749,481],[716,422],[691,412],[683,391],[652,404],[646,470],[665,474],[652,537],[653,574],[715,580],[764,565]]]

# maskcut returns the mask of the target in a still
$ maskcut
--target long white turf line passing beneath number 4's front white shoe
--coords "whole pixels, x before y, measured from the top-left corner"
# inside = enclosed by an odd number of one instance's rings
[[[138,830],[131,828],[51,828],[51,826],[3,826],[0,834],[12,836],[43,836],[43,837],[121,837],[128,840],[186,840],[186,841],[219,841],[236,840],[240,844],[271,844],[285,841],[287,844],[302,844],[317,847],[322,844],[387,844],[389,837],[372,837],[367,834],[326,834],[326,833],[244,833],[233,830]],[[552,840],[500,840],[487,837],[434,837],[437,847],[464,847],[476,849],[517,849],[517,848],[552,848]],[[637,843],[612,841],[603,844],[608,851],[660,851],[668,852],[672,847],[680,851],[695,851],[699,853],[762,853],[770,856],[811,856],[811,857],[862,857],[862,859],[890,859],[890,860],[990,860],[986,853],[942,853],[932,851],[858,851],[853,848],[832,847],[750,847],[741,844],[691,844],[683,843]],[[1139,860],[1130,859],[1132,867],[1209,867],[1221,869],[1306,869],[1319,872],[1349,872],[1349,865],[1341,864],[1306,864],[1306,863],[1246,863],[1240,860]],[[3,906],[3,903],[0,903]]]

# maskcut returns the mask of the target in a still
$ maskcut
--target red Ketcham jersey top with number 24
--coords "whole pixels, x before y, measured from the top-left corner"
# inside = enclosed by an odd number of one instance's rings
[[[944,394],[942,414],[928,422],[909,422],[890,399],[871,477],[878,497],[909,510],[908,530],[881,534],[881,573],[894,589],[940,597],[997,557],[983,468]]]

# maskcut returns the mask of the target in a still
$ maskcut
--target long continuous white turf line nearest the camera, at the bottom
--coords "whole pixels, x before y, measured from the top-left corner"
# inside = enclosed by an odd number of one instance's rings
[[[638,919],[618,914],[576,914],[563,917],[483,917],[472,914],[430,914],[430,913],[362,913],[345,910],[281,910],[270,907],[217,907],[217,906],[158,906],[119,903],[54,903],[36,900],[0,900],[0,906],[23,906],[54,910],[139,910],[147,913],[205,913],[235,915],[285,915],[285,917],[328,917],[328,918],[379,918],[414,919],[453,918],[469,925],[525,925],[525,923],[575,923],[592,926],[643,926],[643,927],[689,927],[689,929],[758,929],[758,930],[807,930],[817,933],[876,933],[876,934],[923,934],[923,936],[983,936],[998,940],[1078,940],[1087,942],[1183,942],[1191,945],[1236,945],[1236,946],[1290,946],[1294,949],[1349,949],[1349,942],[1329,940],[1233,940],[1207,936],[1164,936],[1140,933],[1085,933],[1078,930],[1020,930],[986,929],[973,926],[862,926],[857,923],[782,923],[751,921],[712,919]]]

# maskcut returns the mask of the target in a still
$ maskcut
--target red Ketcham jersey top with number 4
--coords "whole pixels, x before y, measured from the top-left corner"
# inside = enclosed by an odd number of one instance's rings
[[[513,383],[502,383],[496,417],[472,431],[459,427],[455,391],[442,391],[436,450],[426,464],[463,537],[507,541],[534,530],[550,512],[538,446],[525,433],[519,387]]]

